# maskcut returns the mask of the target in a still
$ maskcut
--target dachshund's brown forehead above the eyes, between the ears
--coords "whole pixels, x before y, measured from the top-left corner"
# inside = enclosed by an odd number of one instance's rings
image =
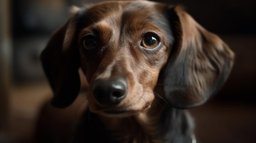
[[[87,24],[81,28],[82,31],[93,29],[112,37],[156,32],[171,41],[167,7],[166,4],[145,0],[101,2],[86,10],[86,17],[80,20],[87,21]],[[81,32],[80,35],[85,34]]]

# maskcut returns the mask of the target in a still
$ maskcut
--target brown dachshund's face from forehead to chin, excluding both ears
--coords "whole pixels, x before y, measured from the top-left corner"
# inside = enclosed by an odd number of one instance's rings
[[[150,107],[173,43],[163,8],[138,1],[88,9],[90,19],[78,39],[92,112],[124,116]]]

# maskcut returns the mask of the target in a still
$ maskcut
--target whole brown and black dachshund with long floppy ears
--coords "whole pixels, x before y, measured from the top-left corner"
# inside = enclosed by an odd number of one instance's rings
[[[54,107],[76,99],[79,68],[88,81],[72,142],[196,143],[181,109],[216,93],[234,56],[181,6],[128,0],[72,7],[41,60]]]

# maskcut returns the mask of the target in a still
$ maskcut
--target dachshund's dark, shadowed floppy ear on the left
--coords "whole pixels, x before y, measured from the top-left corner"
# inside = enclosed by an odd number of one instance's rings
[[[79,8],[72,8],[71,18],[52,35],[40,55],[43,69],[54,92],[52,105],[59,108],[69,106],[80,89],[80,57],[75,40],[75,17],[78,11]]]

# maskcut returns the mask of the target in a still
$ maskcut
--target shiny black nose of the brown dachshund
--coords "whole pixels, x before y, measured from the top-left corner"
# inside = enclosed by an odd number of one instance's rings
[[[97,79],[93,85],[93,95],[103,105],[117,105],[128,90],[125,79]]]

